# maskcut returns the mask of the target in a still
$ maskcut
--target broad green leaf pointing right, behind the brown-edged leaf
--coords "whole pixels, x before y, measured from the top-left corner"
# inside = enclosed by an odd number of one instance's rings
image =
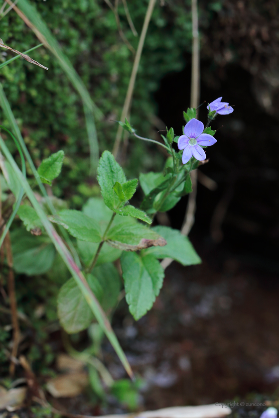
[[[152,230],[164,237],[167,244],[164,247],[153,247],[143,250],[144,254],[152,254],[156,258],[170,257],[183,266],[201,263],[201,259],[194,250],[189,238],[182,235],[180,231],[167,226],[155,226]]]

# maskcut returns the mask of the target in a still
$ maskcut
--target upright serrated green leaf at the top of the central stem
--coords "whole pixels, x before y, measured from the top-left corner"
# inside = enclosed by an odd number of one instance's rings
[[[108,208],[116,209],[121,200],[116,195],[113,187],[116,182],[120,184],[126,182],[124,171],[116,162],[114,156],[109,151],[104,151],[98,166],[98,182],[101,187],[101,194]]]

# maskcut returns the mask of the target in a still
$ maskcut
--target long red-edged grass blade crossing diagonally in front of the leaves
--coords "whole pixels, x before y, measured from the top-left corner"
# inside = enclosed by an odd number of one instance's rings
[[[56,250],[62,257],[63,261],[65,262],[66,266],[68,267],[70,273],[72,274],[73,278],[75,279],[77,285],[79,286],[83,296],[85,297],[88,305],[92,309],[93,314],[97,318],[100,326],[103,328],[105,334],[107,335],[109,341],[111,342],[112,346],[114,347],[117,355],[119,356],[123,366],[125,367],[127,373],[130,375],[131,378],[134,377],[133,371],[131,366],[127,360],[127,357],[122,350],[119,341],[111,327],[111,324],[104,313],[102,307],[100,306],[98,300],[96,299],[94,293],[91,291],[88,283],[83,276],[82,272],[75,264],[71,254],[69,253],[67,247],[63,243],[60,236],[57,234],[56,230],[54,229],[53,225],[48,220],[46,214],[44,213],[43,209],[40,207],[39,203],[37,202],[34,193],[32,192],[27,180],[21,173],[20,169],[18,168],[16,162],[14,161],[11,153],[9,152],[7,146],[5,145],[2,137],[0,136],[0,147],[2,149],[3,154],[5,155],[7,161],[10,163],[20,185],[22,186],[26,196],[28,197],[29,201],[31,202],[33,208],[36,210],[37,215],[39,216],[47,234],[49,235],[51,241],[53,242]]]

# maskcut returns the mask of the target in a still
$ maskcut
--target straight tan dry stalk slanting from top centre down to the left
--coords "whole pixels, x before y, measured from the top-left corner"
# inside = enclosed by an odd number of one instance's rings
[[[125,121],[125,117],[127,117],[130,106],[131,106],[136,77],[137,77],[138,70],[139,70],[139,61],[140,61],[140,57],[142,53],[142,48],[143,48],[146,32],[147,32],[148,25],[150,22],[150,18],[151,18],[151,15],[155,6],[155,2],[156,0],[149,0],[148,7],[146,10],[143,26],[142,26],[140,37],[139,37],[139,45],[138,45],[137,53],[135,56],[134,65],[133,65],[133,69],[132,69],[132,73],[130,77],[130,82],[129,82],[129,86],[128,86],[128,90],[127,90],[127,94],[126,94],[126,98],[125,98],[125,102],[124,102],[124,106],[123,106],[123,110],[122,110],[122,114],[120,118],[122,122]],[[116,134],[114,148],[113,148],[113,154],[115,157],[117,157],[118,155],[120,142],[122,138],[122,132],[123,132],[123,128],[119,125],[117,134]]]

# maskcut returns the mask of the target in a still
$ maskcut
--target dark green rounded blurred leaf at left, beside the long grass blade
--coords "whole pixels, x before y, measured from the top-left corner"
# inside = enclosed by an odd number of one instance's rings
[[[33,236],[17,228],[10,233],[13,268],[16,273],[34,276],[46,273],[53,264],[55,248],[46,236]]]

